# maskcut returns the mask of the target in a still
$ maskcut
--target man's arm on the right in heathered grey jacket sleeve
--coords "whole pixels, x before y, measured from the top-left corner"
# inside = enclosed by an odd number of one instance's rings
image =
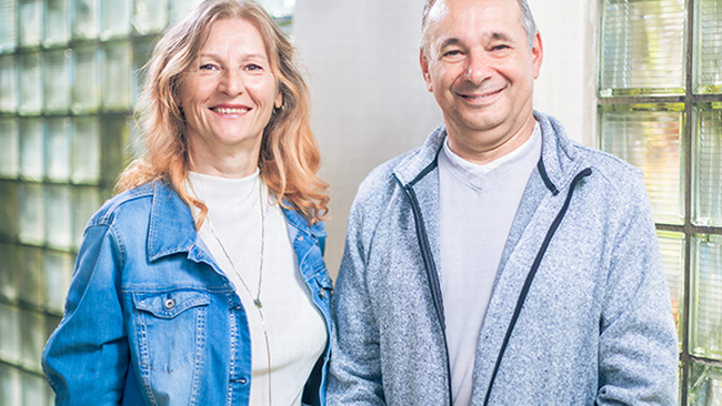
[[[679,344],[641,176],[619,226],[600,321],[599,405],[676,405]]]

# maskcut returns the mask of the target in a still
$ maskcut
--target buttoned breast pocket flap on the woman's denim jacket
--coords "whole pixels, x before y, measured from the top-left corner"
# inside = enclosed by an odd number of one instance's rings
[[[207,292],[174,291],[163,293],[136,293],[136,309],[151,313],[158,318],[174,318],[192,307],[208,306],[211,303]]]

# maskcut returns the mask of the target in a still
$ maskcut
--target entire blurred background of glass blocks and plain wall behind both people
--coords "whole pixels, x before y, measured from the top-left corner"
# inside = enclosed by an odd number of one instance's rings
[[[139,153],[154,41],[199,0],[0,0],[0,406],[51,405],[40,354],[90,215]],[[331,184],[335,276],[378,164],[442,122],[419,70],[424,0],[260,1],[291,34]],[[529,0],[535,109],[644,171],[680,335],[680,405],[722,405],[722,0]]]

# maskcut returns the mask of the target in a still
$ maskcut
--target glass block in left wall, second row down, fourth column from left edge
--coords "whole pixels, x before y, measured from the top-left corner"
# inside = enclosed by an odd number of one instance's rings
[[[100,102],[98,87],[98,54],[94,47],[76,48],[72,110],[76,113],[93,112]]]

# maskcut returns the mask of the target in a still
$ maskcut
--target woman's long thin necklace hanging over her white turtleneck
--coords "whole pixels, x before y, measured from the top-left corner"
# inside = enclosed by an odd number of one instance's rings
[[[191,191],[195,195],[195,199],[198,197],[198,194],[195,193],[195,190],[193,189],[193,183],[188,180],[188,184],[191,186]],[[264,203],[263,203],[263,177],[259,173],[258,175],[258,197],[259,197],[259,206],[261,209],[261,258],[259,261],[259,270],[258,270],[258,288],[255,291],[255,296],[253,296],[253,293],[251,293],[250,287],[248,287],[248,284],[243,280],[243,276],[241,276],[241,273],[238,272],[238,268],[235,268],[235,264],[233,263],[233,260],[231,260],[231,256],[228,254],[228,251],[225,250],[225,246],[221,242],[221,238],[218,236],[218,233],[215,233],[215,229],[213,229],[213,223],[211,222],[210,216],[207,216],[208,221],[208,226],[211,230],[211,233],[213,234],[213,237],[215,237],[215,241],[218,242],[218,245],[220,245],[221,250],[223,251],[223,254],[225,255],[225,258],[228,262],[231,264],[231,268],[233,268],[233,272],[235,273],[235,276],[241,281],[241,284],[248,292],[248,294],[251,296],[253,300],[253,304],[255,305],[255,309],[258,311],[259,317],[261,318],[261,326],[263,327],[263,338],[265,338],[265,355],[267,355],[267,366],[268,366],[268,402],[269,406],[272,405],[271,402],[271,345],[269,343],[268,338],[268,328],[265,328],[265,318],[263,317],[263,303],[261,303],[261,285],[263,283],[263,248],[265,245],[265,212],[263,210]]]

